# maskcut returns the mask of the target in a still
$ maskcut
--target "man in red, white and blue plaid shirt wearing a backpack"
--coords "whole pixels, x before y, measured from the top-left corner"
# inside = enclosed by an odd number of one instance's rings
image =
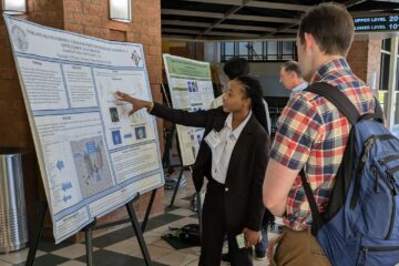
[[[345,57],[354,38],[354,21],[345,7],[323,3],[301,19],[298,61],[309,84],[327,82],[341,90],[360,113],[374,111],[370,89],[350,70]],[[311,214],[299,172],[305,170],[319,212],[328,204],[350,130],[348,120],[328,100],[299,92],[279,117],[264,183],[264,203],[284,218],[284,233],[272,264],[329,265],[310,233]],[[273,246],[273,245],[269,245]],[[272,250],[270,248],[269,250]]]

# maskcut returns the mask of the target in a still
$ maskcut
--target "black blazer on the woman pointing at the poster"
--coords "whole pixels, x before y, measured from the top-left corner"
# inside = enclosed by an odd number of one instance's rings
[[[155,103],[151,114],[176,124],[205,129],[193,167],[194,186],[197,192],[201,191],[204,176],[212,178],[212,151],[204,139],[212,130],[218,132],[224,127],[228,113],[223,108],[190,113]],[[227,168],[225,207],[228,231],[244,227],[260,231],[265,212],[262,192],[268,146],[268,134],[252,115],[234,146]]]

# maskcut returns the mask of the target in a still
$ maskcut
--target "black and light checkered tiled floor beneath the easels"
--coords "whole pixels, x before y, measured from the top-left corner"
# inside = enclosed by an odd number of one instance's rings
[[[197,217],[190,209],[190,196],[193,194],[190,173],[185,173],[187,185],[178,191],[175,207],[166,208],[165,214],[149,221],[144,239],[154,266],[196,266],[198,264],[200,247],[174,249],[161,238],[170,233],[168,227],[181,227],[190,223],[197,223]],[[168,205],[172,191],[165,191],[165,204]],[[269,233],[269,235],[274,235]],[[133,228],[127,226],[98,236],[93,239],[93,260],[95,266],[132,266],[145,265],[140,246],[134,237]],[[0,255],[0,266],[24,265],[28,249]],[[268,265],[267,260],[255,260],[255,266]],[[84,243],[62,243],[54,245],[41,242],[34,266],[82,266],[85,265]],[[228,265],[222,263],[221,265]]]

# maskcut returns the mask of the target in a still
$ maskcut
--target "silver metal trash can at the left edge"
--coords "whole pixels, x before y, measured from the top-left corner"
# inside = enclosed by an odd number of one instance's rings
[[[0,253],[19,250],[28,243],[23,153],[18,147],[0,147]]]

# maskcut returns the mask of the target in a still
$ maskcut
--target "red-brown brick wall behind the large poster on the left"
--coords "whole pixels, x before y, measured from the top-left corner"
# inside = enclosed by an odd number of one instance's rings
[[[151,91],[154,101],[162,101],[162,57],[161,57],[161,1],[140,0],[133,2],[133,21],[122,23],[109,20],[109,0],[28,0],[28,14],[21,16],[30,21],[86,35],[139,42],[143,44]],[[32,151],[24,160],[27,203],[30,224],[34,224],[37,201],[43,193],[39,176],[33,141],[28,123],[21,88],[12,58],[4,21],[0,16],[0,146],[20,146]],[[161,149],[163,147],[162,121],[157,120]],[[154,202],[153,213],[162,213],[164,191],[160,188]],[[135,203],[139,217],[144,216],[150,194]],[[104,221],[125,216],[119,209]]]

